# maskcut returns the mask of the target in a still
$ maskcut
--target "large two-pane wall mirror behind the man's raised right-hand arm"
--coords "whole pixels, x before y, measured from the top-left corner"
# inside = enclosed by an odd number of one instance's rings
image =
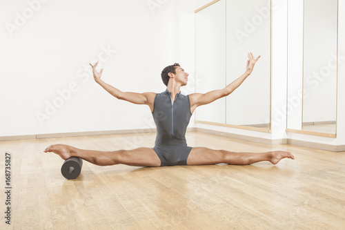
[[[220,0],[195,11],[198,93],[224,88],[241,76],[248,52],[262,55],[232,94],[197,108],[196,122],[270,132],[271,4]]]

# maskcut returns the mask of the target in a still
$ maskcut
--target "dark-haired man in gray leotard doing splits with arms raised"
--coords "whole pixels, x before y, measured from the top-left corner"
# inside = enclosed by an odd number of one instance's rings
[[[260,57],[260,56],[259,56]],[[226,97],[244,82],[252,73],[259,59],[248,53],[246,72],[225,88],[208,93],[192,93],[181,95],[181,86],[186,86],[188,73],[179,64],[167,66],[161,72],[161,78],[167,86],[162,93],[130,93],[121,92],[117,88],[101,80],[103,69],[97,72],[92,67],[95,81],[117,99],[134,104],[146,104],[150,107],[157,127],[157,137],[154,148],[136,148],[133,150],[92,151],[75,148],[64,144],[48,146],[44,152],[57,153],[63,160],[69,157],[80,157],[83,160],[100,166],[127,164],[131,166],[170,166],[170,165],[200,165],[200,164],[253,164],[269,161],[277,164],[285,157],[294,159],[291,153],[285,151],[270,151],[266,153],[235,153],[226,150],[213,150],[204,147],[190,147],[186,144],[186,129],[195,108]]]

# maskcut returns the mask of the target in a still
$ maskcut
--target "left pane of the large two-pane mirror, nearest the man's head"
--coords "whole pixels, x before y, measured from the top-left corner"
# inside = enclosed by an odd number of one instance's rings
[[[196,92],[207,93],[226,86],[226,1],[218,1],[195,15]],[[200,106],[195,119],[225,124],[226,98]]]

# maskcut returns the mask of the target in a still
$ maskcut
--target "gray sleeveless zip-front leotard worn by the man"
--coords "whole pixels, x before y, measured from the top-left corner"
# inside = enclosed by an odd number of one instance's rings
[[[161,166],[187,164],[192,150],[186,143],[186,130],[192,116],[189,96],[177,93],[171,103],[171,93],[166,89],[157,93],[152,111],[157,128],[157,137],[153,150],[161,160]]]

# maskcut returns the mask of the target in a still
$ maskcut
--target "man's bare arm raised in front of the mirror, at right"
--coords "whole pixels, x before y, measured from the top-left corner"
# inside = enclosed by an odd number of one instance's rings
[[[230,95],[230,93],[233,93],[233,91],[238,86],[240,86],[242,82],[244,82],[244,80],[250,75],[250,73],[252,73],[255,63],[259,59],[259,57],[255,59],[251,52],[248,53],[246,72],[243,75],[241,75],[241,77],[237,78],[235,81],[228,84],[228,86],[226,86],[225,88],[222,88],[220,90],[213,90],[208,93],[193,93],[189,95],[192,113],[195,110],[195,108],[197,108],[197,106],[209,104],[211,102],[214,102],[216,99],[226,97]]]

